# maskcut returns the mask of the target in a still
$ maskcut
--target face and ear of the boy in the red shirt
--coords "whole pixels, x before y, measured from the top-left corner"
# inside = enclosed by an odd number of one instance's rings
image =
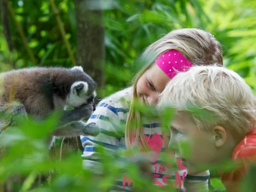
[[[182,159],[182,165],[189,174],[197,174],[209,169],[221,160],[219,148],[225,143],[223,133],[217,130],[199,130],[187,113],[177,113],[170,126],[169,148],[176,157]],[[220,128],[221,130],[221,128]]]

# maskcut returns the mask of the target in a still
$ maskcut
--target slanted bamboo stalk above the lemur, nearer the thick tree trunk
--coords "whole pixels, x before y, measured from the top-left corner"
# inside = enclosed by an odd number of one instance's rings
[[[76,65],[76,59],[75,59],[75,57],[74,57],[74,55],[73,55],[73,52],[72,52],[70,43],[69,43],[69,41],[68,41],[67,38],[66,38],[66,32],[65,32],[65,29],[64,29],[64,27],[63,27],[63,23],[62,23],[62,21],[61,21],[61,17],[60,17],[60,15],[59,15],[58,9],[57,9],[57,7],[55,6],[54,0],[50,0],[50,4],[51,4],[51,6],[52,6],[54,15],[55,15],[55,17],[56,17],[57,24],[58,24],[58,27],[59,27],[59,29],[60,29],[62,39],[63,39],[63,41],[64,41],[64,44],[65,44],[66,47],[67,47],[67,52],[68,52],[68,54],[69,54],[69,56],[70,56],[70,59],[71,59],[73,65]]]

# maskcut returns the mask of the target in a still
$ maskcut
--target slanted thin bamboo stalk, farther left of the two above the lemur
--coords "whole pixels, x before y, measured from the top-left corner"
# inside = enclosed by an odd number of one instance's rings
[[[24,44],[25,47],[26,47],[26,50],[27,50],[27,52],[28,52],[28,54],[29,54],[29,57],[31,58],[33,64],[36,65],[36,64],[37,64],[37,61],[36,61],[36,59],[35,59],[35,57],[34,57],[34,55],[33,55],[32,49],[30,49],[30,47],[29,47],[29,44],[28,44],[28,41],[26,40],[26,36],[25,36],[25,34],[24,34],[24,32],[23,32],[23,29],[22,29],[20,23],[19,23],[19,22],[17,21],[17,19],[16,19],[15,11],[14,11],[13,8],[12,8],[11,2],[9,2],[8,8],[9,8],[9,12],[11,13],[12,18],[13,18],[13,20],[14,20],[14,23],[15,23],[17,29],[18,29],[18,32],[19,32],[19,34],[20,34],[20,37],[21,37],[21,39],[22,39],[22,41],[23,41],[23,44]]]

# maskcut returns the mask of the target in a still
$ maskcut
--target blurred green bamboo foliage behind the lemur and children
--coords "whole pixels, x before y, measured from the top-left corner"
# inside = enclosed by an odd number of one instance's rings
[[[55,15],[47,0],[12,0],[16,18],[39,66],[71,67]],[[73,0],[55,0],[76,54],[76,18]],[[125,87],[135,73],[134,61],[145,47],[172,29],[196,27],[221,42],[224,64],[236,70],[253,88],[255,78],[255,9],[247,0],[115,0],[105,4],[105,95]],[[19,6],[23,5],[23,6]],[[12,38],[17,68],[33,66],[12,17]],[[1,26],[0,26],[1,27]],[[2,30],[2,27],[0,28]],[[86,45],[85,45],[86,46]],[[9,52],[0,34],[1,70]]]

